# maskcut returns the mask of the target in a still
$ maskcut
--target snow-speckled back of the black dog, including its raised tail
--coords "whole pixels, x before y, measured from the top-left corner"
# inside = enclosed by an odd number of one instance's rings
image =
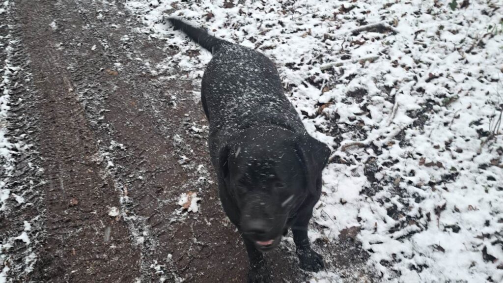
[[[180,20],[170,21],[213,53],[201,89],[210,131],[268,124],[294,132],[305,131],[293,105],[283,94],[279,74],[269,58]]]

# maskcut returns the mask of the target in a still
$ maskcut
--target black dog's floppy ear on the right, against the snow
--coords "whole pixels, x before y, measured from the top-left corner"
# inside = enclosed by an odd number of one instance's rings
[[[330,149],[305,133],[295,138],[295,151],[304,169],[308,191],[314,195],[318,194],[321,190],[321,171],[328,162]]]

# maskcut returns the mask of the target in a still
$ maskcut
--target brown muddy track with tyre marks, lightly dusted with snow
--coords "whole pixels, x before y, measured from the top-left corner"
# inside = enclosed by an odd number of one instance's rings
[[[217,198],[198,86],[182,72],[150,72],[177,50],[136,32],[121,3],[19,1],[4,19],[24,72],[10,133],[26,133],[33,150],[14,178],[32,181],[31,205],[3,214],[0,236],[39,219],[33,270],[23,272],[22,242],[9,251],[13,281],[244,282],[246,252]],[[177,204],[187,191],[202,199],[196,214]],[[315,243],[348,281],[365,277],[357,232]],[[309,278],[291,239],[267,259],[275,282]]]

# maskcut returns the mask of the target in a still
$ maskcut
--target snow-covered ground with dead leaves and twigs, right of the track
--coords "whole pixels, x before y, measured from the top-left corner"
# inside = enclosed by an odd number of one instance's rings
[[[156,75],[182,68],[197,89],[211,58],[162,16],[276,62],[306,128],[333,151],[311,240],[359,231],[382,281],[503,280],[503,2],[126,4],[141,32],[180,50]],[[313,281],[337,281],[331,271]]]

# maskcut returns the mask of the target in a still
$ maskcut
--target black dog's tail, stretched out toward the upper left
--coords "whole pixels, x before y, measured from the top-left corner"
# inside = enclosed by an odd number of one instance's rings
[[[203,29],[195,28],[184,21],[181,21],[176,18],[167,18],[168,21],[175,27],[175,30],[181,30],[185,34],[187,34],[192,40],[197,42],[206,50],[211,53],[215,53],[220,47],[225,44],[230,44],[230,42],[225,41],[223,39],[218,39],[212,35],[209,35]]]

